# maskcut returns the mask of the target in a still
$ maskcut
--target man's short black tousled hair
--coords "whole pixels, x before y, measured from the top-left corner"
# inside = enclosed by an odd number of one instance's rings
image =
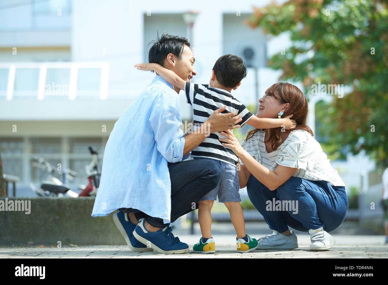
[[[159,32],[157,34],[158,38],[151,41],[148,45],[152,44],[148,52],[148,62],[156,63],[163,66],[166,56],[169,53],[180,58],[183,53],[184,45],[190,47],[189,41],[186,38],[180,36],[172,36],[164,32],[159,38]]]

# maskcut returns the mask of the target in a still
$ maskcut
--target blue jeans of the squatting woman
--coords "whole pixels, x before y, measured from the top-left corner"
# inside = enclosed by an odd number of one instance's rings
[[[253,206],[263,215],[269,228],[280,233],[286,232],[288,227],[301,232],[323,227],[326,232],[331,232],[341,225],[349,208],[345,186],[331,186],[322,180],[310,181],[291,176],[284,184],[270,191],[251,175],[247,191]],[[268,206],[273,204],[273,198],[281,201],[275,204],[294,201],[298,211],[293,211],[291,207],[288,211],[274,210]]]

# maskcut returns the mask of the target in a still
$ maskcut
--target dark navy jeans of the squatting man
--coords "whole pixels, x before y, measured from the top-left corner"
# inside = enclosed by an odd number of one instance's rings
[[[171,223],[177,218],[198,209],[198,201],[213,190],[221,180],[220,163],[213,159],[185,160],[167,163],[171,180]],[[193,204],[195,203],[195,205]],[[120,208],[125,213],[135,213],[137,220],[145,220],[156,228],[165,227],[163,219],[151,217],[137,209]]]

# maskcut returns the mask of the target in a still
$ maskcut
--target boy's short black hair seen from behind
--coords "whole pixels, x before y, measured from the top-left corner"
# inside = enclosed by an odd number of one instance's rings
[[[237,55],[223,55],[213,66],[218,83],[228,88],[234,88],[246,77],[246,65]]]

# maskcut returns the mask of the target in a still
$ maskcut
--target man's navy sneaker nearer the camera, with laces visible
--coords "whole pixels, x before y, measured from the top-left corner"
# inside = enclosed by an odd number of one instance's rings
[[[144,221],[145,218],[140,219],[133,231],[133,236],[137,240],[163,254],[180,254],[189,251],[187,244],[179,241],[178,237],[174,237],[171,227],[161,228],[154,233],[147,232]]]

